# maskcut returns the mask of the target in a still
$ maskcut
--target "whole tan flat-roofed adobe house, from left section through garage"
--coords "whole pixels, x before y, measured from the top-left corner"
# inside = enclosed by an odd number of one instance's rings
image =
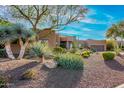
[[[74,41],[79,42],[79,47],[81,45],[87,46],[96,51],[105,51],[106,50],[106,40],[76,40],[74,36],[62,36],[57,34],[54,30],[45,29],[40,31],[39,40],[43,42],[48,42],[50,47],[60,46],[63,48],[70,49],[72,48],[72,43]]]

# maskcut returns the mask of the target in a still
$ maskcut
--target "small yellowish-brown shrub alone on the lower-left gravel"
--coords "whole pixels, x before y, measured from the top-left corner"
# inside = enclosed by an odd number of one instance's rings
[[[36,70],[26,70],[22,75],[21,75],[21,79],[25,80],[25,79],[35,79],[37,75],[37,71]]]

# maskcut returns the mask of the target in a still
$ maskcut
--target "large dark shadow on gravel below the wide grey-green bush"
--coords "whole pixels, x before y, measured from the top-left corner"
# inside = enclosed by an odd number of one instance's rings
[[[47,88],[77,87],[83,76],[83,70],[68,70],[61,68],[48,69],[44,66],[41,69],[48,72],[44,84],[44,87]]]

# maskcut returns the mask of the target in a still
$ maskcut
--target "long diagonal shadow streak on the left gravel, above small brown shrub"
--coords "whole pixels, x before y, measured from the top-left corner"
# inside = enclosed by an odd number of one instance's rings
[[[26,70],[31,69],[35,66],[40,64],[39,62],[30,62],[28,64],[25,64],[23,66],[17,67],[15,69],[9,70],[6,72],[6,74],[9,74],[13,79],[19,79],[22,73],[24,73]]]

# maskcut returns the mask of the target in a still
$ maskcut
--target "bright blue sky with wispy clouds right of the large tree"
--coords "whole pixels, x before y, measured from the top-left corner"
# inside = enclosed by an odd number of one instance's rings
[[[79,39],[105,39],[105,32],[116,22],[124,20],[124,6],[89,5],[86,17],[79,24],[68,25],[63,35],[77,36]]]

